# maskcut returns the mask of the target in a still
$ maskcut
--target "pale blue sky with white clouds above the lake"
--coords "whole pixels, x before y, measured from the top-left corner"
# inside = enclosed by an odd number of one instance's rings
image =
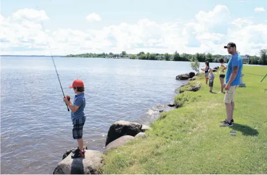
[[[44,54],[45,40],[55,54],[220,54],[230,40],[257,54],[266,9],[265,0],[1,0],[1,54]]]

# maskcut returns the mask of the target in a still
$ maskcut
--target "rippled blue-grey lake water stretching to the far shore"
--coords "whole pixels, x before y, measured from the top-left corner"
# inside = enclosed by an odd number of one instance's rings
[[[102,151],[116,121],[144,123],[148,110],[173,100],[192,71],[189,62],[55,57],[65,95],[84,81],[84,141]],[[1,57],[1,174],[52,174],[62,154],[77,145],[70,113],[49,57]],[[211,66],[217,66],[212,63]],[[204,66],[204,63],[201,63]]]

